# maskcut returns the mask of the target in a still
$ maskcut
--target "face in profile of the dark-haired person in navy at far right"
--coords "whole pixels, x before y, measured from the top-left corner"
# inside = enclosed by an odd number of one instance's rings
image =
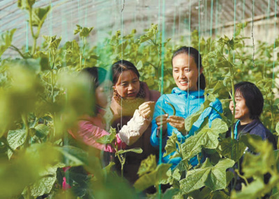
[[[250,111],[248,107],[246,106],[246,100],[241,95],[241,93],[236,92],[234,96],[234,100],[236,102],[235,106],[235,119],[239,119],[241,122],[241,125],[246,125],[250,122],[252,122],[252,119],[250,118]],[[234,102],[229,102],[229,109],[232,111],[232,114],[234,113]]]

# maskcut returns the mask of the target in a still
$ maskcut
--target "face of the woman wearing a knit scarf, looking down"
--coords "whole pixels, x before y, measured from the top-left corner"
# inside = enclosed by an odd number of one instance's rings
[[[123,99],[134,100],[140,92],[140,80],[132,70],[123,71],[114,88]]]

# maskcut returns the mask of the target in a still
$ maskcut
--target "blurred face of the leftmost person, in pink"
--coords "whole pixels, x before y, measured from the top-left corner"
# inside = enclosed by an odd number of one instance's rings
[[[112,81],[106,80],[100,84],[95,90],[96,104],[105,108],[112,100]]]

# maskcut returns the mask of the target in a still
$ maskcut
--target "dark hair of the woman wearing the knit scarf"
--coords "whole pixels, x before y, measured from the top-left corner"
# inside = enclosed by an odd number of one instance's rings
[[[133,72],[135,72],[135,74],[137,74],[137,77],[140,79],[140,73],[137,70],[137,67],[135,67],[135,65],[133,65],[133,63],[130,63],[130,61],[126,61],[126,60],[120,60],[112,65],[112,72],[113,72],[112,83],[113,83],[113,85],[115,85],[115,83],[118,81],[120,74],[126,70],[132,70]]]

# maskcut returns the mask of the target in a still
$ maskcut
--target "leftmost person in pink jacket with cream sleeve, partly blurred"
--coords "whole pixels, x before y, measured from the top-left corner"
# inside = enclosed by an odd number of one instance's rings
[[[106,121],[104,119],[106,107],[112,98],[112,81],[110,73],[101,67],[86,67],[81,72],[82,75],[89,79],[89,87],[95,96],[95,106],[92,114],[89,116],[81,116],[77,122],[77,129],[70,129],[68,133],[83,145],[95,148],[100,155],[100,152],[115,152],[115,149],[110,144],[98,143],[98,138],[108,135],[105,130]],[[107,78],[109,77],[109,78]],[[118,149],[125,149],[128,145],[133,145],[137,139],[142,136],[142,126],[149,125],[149,118],[153,111],[150,106],[137,107],[134,117],[123,126],[123,128],[116,134],[115,145]],[[64,171],[68,168],[64,169]],[[63,188],[67,189],[66,177],[63,179]]]

